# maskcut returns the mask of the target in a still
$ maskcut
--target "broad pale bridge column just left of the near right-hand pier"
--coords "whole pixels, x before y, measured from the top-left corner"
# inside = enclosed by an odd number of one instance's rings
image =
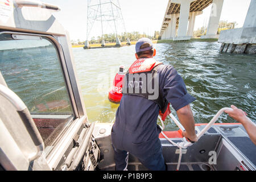
[[[218,23],[222,11],[224,0],[213,0],[210,19],[207,27],[207,34],[201,36],[201,39],[217,39]]]

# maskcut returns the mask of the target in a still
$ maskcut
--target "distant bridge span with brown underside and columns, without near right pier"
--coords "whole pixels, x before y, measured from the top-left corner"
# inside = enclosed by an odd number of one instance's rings
[[[201,39],[217,38],[218,23],[224,0],[170,0],[164,15],[160,38],[190,40],[193,35],[195,18],[213,4],[207,34]]]

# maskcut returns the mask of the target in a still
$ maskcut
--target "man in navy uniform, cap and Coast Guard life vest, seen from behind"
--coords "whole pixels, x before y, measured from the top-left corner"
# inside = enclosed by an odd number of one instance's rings
[[[195,98],[187,93],[183,79],[171,65],[164,65],[153,59],[156,50],[150,39],[138,40],[135,49],[137,61],[126,73],[123,96],[111,134],[115,169],[127,169],[130,153],[148,169],[166,170],[159,140],[161,130],[156,124],[159,110],[166,112],[170,102],[185,128],[183,136],[196,142],[195,121],[189,106]],[[135,75],[147,80],[140,78],[134,81],[130,76],[136,77]],[[153,85],[157,98],[148,90],[148,84]],[[136,88],[139,92],[134,92]],[[143,88],[147,88],[146,92],[143,92]]]

